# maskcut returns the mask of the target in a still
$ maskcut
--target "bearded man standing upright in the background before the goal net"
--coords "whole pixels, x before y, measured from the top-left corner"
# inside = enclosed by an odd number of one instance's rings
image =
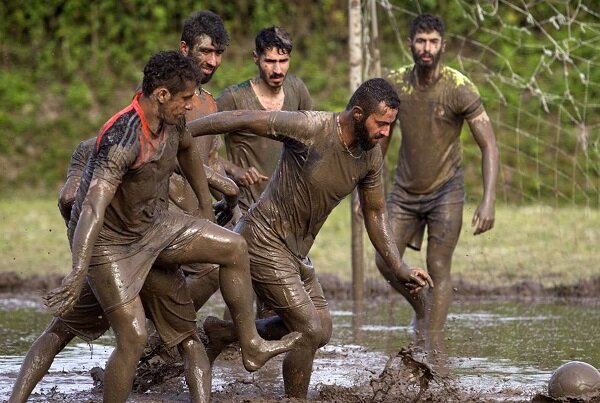
[[[420,250],[427,227],[427,270],[436,286],[415,298],[383,256],[378,254],[376,261],[383,276],[415,310],[415,331],[425,350],[443,351],[442,332],[452,299],[450,266],[465,197],[460,145],[463,122],[467,121],[482,154],[483,199],[472,219],[475,235],[494,226],[498,150],[477,88],[441,63],[446,45],[442,20],[431,14],[417,16],[408,44],[414,65],[389,75],[400,98],[402,140],[387,212],[401,253],[406,247]],[[389,138],[385,138],[384,155],[388,144]]]

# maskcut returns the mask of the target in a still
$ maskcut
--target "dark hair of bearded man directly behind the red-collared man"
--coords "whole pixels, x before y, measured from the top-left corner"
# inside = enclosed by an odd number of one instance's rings
[[[181,40],[191,49],[200,35],[207,35],[216,48],[229,46],[229,34],[223,20],[212,11],[203,10],[190,14],[183,22]]]

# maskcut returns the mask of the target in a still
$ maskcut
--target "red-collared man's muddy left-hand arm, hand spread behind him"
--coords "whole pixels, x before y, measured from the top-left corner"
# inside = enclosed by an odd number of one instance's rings
[[[87,195],[81,206],[81,214],[73,233],[71,254],[73,266],[71,272],[63,279],[61,285],[48,293],[46,305],[55,308],[55,315],[60,316],[70,311],[79,298],[88,267],[92,258],[92,250],[104,224],[104,214],[112,201],[117,185],[101,178],[93,178]]]

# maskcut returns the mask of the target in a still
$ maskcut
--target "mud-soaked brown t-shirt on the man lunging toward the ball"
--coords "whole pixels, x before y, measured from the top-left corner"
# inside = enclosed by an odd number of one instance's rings
[[[381,148],[352,157],[337,135],[337,113],[272,112],[269,134],[283,139],[277,169],[242,220],[276,238],[300,258],[310,250],[329,213],[356,186],[381,186]]]

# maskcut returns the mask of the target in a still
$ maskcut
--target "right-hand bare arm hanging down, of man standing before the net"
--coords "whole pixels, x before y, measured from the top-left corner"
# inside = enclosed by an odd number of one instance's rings
[[[473,215],[471,226],[474,235],[494,227],[496,216],[496,181],[498,179],[498,147],[490,118],[484,111],[467,121],[473,138],[481,150],[481,170],[483,174],[483,199]]]

